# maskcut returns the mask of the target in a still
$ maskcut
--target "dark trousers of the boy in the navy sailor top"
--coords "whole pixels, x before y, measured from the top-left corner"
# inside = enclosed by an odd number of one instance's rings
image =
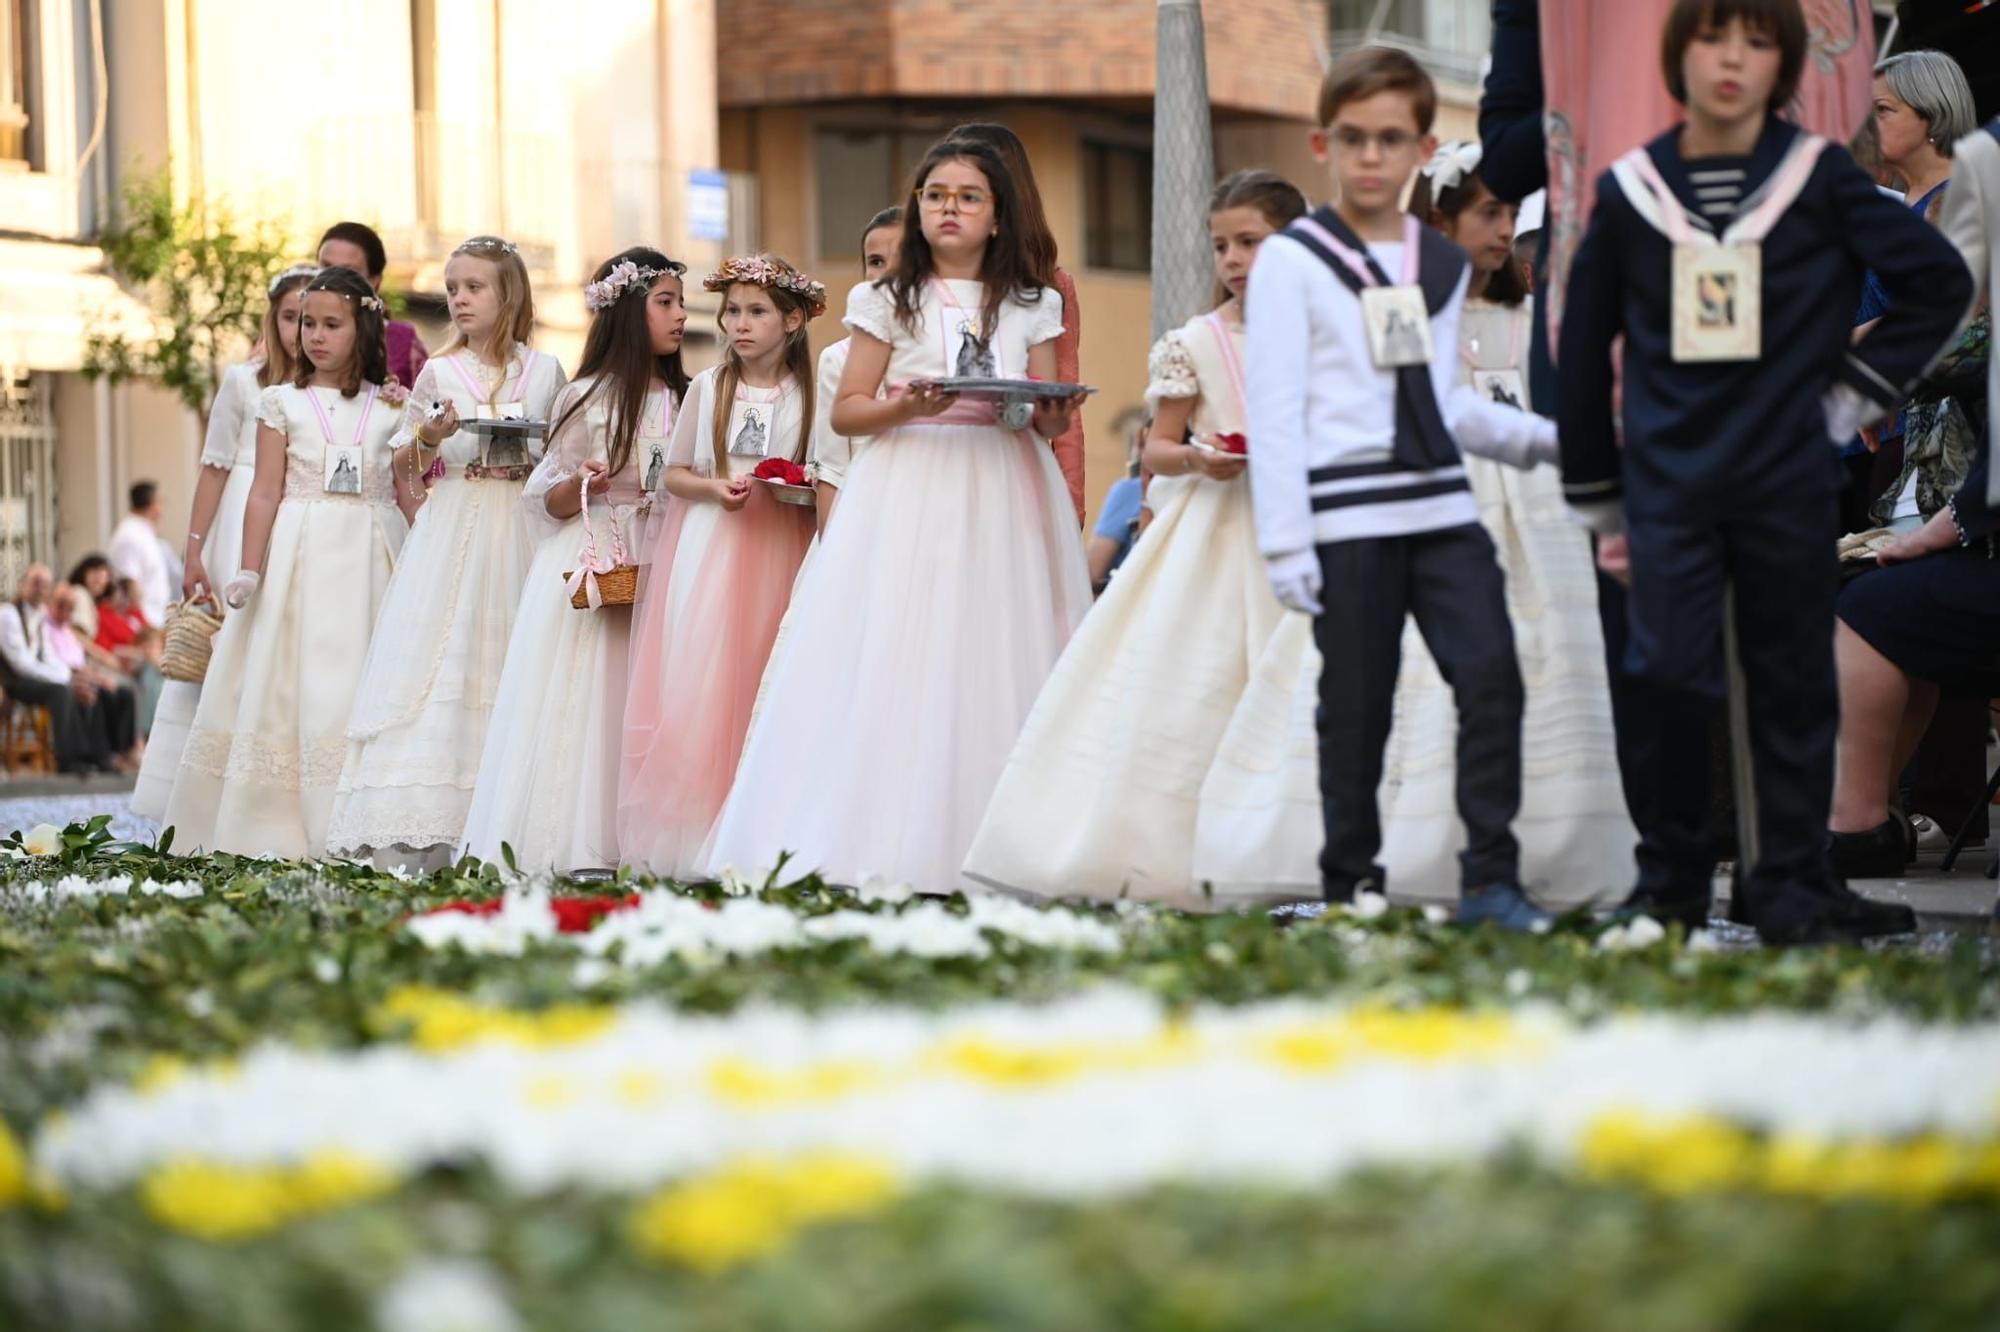
[[[1750,704],[1760,896],[1826,886],[1826,814],[1834,796],[1834,510],[1808,498],[1722,522],[1632,524],[1630,644],[1636,682],[1632,760],[1648,790],[1632,806],[1638,886],[1648,896],[1706,900],[1708,726],[1722,706],[1724,586],[1736,588],[1736,644]]]

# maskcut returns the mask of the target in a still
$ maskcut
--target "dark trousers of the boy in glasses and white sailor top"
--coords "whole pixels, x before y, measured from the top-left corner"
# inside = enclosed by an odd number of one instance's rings
[[[1320,880],[1344,900],[1364,880],[1386,888],[1376,864],[1382,820],[1376,788],[1402,666],[1402,626],[1416,628],[1458,702],[1458,816],[1466,824],[1462,884],[1520,880],[1520,662],[1506,584],[1486,530],[1468,524],[1418,536],[1320,546],[1326,610],[1320,644],[1320,802],[1326,848]]]

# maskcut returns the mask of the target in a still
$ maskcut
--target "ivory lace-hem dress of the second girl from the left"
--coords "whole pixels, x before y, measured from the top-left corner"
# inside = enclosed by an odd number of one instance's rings
[[[366,390],[278,384],[258,418],[286,436],[284,500],[262,584],[216,634],[166,824],[184,850],[322,856],[354,690],[406,532],[390,480],[396,410]],[[342,450],[360,440],[360,494],[326,488],[328,434]]]

